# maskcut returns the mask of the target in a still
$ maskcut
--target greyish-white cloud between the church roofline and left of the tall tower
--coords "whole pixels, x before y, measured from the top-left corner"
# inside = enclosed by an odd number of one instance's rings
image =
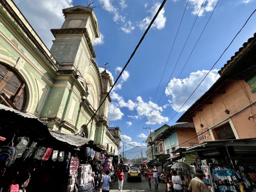
[[[54,40],[50,29],[60,28],[64,22],[62,9],[73,6],[73,0],[14,0],[14,2],[48,48],[52,46]]]

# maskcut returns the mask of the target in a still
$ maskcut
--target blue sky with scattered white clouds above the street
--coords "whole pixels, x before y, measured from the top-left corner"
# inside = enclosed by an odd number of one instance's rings
[[[64,21],[62,9],[75,5],[87,5],[85,0],[14,1],[48,48],[54,39],[50,28],[60,28]],[[176,69],[170,76],[203,2],[203,0],[189,0],[153,103],[187,2],[186,0],[167,0],[164,10],[160,12],[111,93],[112,103],[108,119],[111,127],[121,128],[123,141],[141,145],[148,135],[148,132],[142,129],[143,127],[151,127],[155,130],[169,122],[256,7],[256,0],[220,0],[191,58],[178,78],[217,1],[204,1]],[[160,4],[159,0],[95,0],[93,6],[96,6],[94,11],[101,33],[101,38],[97,39],[94,45],[97,55],[95,60],[98,66],[102,66],[105,62],[110,63],[108,70],[114,80],[126,64]],[[255,20],[256,14],[251,17],[215,65],[214,70],[209,73],[198,91],[181,112],[169,122],[169,125],[175,124],[178,117],[218,79],[218,69],[256,32]],[[169,95],[168,98],[167,95]]]

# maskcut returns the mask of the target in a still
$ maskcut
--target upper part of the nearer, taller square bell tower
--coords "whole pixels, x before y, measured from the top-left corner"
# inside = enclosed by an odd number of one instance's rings
[[[60,64],[60,70],[75,70],[85,78],[91,58],[95,58],[93,43],[100,37],[98,21],[89,7],[63,9],[65,21],[60,29],[51,29],[55,40],[50,52]]]

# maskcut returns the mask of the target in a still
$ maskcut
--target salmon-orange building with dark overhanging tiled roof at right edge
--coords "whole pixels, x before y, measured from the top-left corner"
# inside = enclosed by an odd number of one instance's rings
[[[199,142],[256,138],[256,33],[218,71],[220,78],[177,122],[193,122]]]

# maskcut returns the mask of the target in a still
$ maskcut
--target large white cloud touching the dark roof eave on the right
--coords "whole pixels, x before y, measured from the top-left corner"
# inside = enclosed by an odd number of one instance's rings
[[[208,73],[208,70],[192,72],[189,77],[185,79],[173,78],[165,89],[165,94],[171,96],[170,105],[175,110],[178,111],[180,107],[185,103],[188,96],[191,95],[194,89],[202,81],[204,76]],[[214,69],[210,71],[206,79],[198,87],[196,92],[191,96],[188,102],[182,107],[180,112],[186,111],[199,97],[201,97],[204,92],[206,92],[210,86],[219,78],[218,70]],[[177,80],[176,84],[175,81]],[[175,86],[174,86],[175,84]],[[172,87],[174,88],[172,89]],[[172,89],[172,90],[171,90]]]

